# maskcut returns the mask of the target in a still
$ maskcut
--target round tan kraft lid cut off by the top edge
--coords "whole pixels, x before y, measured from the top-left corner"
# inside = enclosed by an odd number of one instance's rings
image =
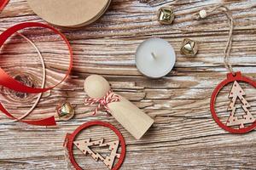
[[[61,27],[86,26],[107,10],[111,0],[27,0],[32,10],[49,24]]]

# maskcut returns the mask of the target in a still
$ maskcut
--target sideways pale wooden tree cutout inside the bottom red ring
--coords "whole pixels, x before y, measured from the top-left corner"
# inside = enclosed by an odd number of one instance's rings
[[[86,156],[89,154],[95,161],[101,160],[103,163],[109,168],[112,169],[113,162],[115,158],[119,158],[120,154],[118,154],[119,149],[119,140],[115,140],[113,142],[108,142],[104,144],[104,139],[90,141],[90,139],[78,140],[74,141],[79,150],[81,150],[84,155]],[[90,150],[90,146],[99,145],[99,147],[109,146],[109,150],[111,150],[110,156],[106,156],[106,158],[102,157],[99,153],[95,153],[94,151]]]

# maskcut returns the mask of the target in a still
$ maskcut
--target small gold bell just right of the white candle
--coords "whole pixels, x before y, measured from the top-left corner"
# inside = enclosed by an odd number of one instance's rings
[[[180,53],[187,56],[195,56],[198,52],[197,42],[194,40],[185,38],[182,42],[182,47],[180,48]]]

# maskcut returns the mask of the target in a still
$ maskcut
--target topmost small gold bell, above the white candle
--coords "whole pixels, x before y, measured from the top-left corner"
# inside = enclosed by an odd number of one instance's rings
[[[171,7],[166,6],[166,7],[161,7],[158,10],[158,21],[161,24],[172,24],[172,21],[174,20],[174,13]]]

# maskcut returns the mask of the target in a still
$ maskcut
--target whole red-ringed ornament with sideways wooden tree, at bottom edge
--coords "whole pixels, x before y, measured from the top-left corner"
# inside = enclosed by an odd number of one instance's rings
[[[78,135],[80,133],[83,133],[83,130],[86,128],[94,127],[94,126],[102,126],[107,127],[110,130],[115,133],[115,135],[118,137],[118,139],[104,143],[104,139],[91,141],[91,139],[82,139],[82,140],[76,140]],[[125,139],[123,135],[119,132],[119,130],[116,127],[113,127],[113,125],[109,124],[108,122],[101,122],[101,121],[94,121],[94,122],[86,122],[83,125],[79,126],[73,133],[67,133],[66,139],[64,141],[65,146],[65,157],[67,161],[67,167],[68,169],[73,167],[76,170],[82,170],[83,168],[79,166],[78,162],[75,160],[73,154],[73,146],[76,146],[81,150],[84,155],[90,155],[95,161],[101,160],[103,163],[111,170],[118,170],[119,167],[122,166],[123,161],[125,160],[125,153],[126,153],[126,146],[125,146]],[[94,152],[91,150],[91,146],[99,147],[105,147],[109,146],[109,150],[111,150],[111,153],[103,157],[99,153]],[[120,149],[120,150],[119,150]],[[115,162],[115,159],[118,159],[117,162]]]

